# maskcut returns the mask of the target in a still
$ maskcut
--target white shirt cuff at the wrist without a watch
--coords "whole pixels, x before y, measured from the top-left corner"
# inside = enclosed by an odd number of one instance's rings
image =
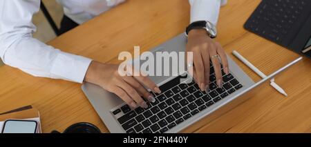
[[[86,57],[59,52],[50,72],[62,79],[82,84],[91,61]]]

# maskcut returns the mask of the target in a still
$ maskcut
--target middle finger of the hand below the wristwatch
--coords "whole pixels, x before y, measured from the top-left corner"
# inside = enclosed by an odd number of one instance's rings
[[[202,60],[204,64],[204,75],[205,75],[205,92],[209,92],[209,51],[208,48],[202,50]]]

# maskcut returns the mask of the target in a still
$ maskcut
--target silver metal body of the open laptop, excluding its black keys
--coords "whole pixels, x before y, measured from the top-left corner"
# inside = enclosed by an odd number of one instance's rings
[[[185,37],[185,35],[184,34],[178,35],[177,37],[174,37],[173,39],[165,43],[162,43],[160,46],[153,48],[151,52],[156,51],[182,52],[185,51],[186,43],[187,38]],[[232,108],[238,106],[238,104],[241,104],[241,102],[251,98],[253,95],[252,92],[254,91],[258,92],[258,90],[254,90],[254,88],[260,88],[261,84],[267,83],[268,81],[270,81],[269,79],[272,79],[274,76],[276,76],[277,74],[279,74],[292,64],[296,63],[296,61],[294,61],[293,63],[290,63],[288,66],[285,66],[280,70],[274,72],[272,75],[269,75],[267,78],[262,79],[261,81],[255,83],[254,81],[252,81],[250,77],[248,77],[245,74],[245,72],[243,72],[243,70],[241,70],[241,68],[238,67],[238,65],[236,65],[236,63],[234,63],[232,59],[230,59],[229,56],[228,61],[230,73],[234,75],[235,79],[237,79],[243,87],[236,90],[235,92],[232,92],[227,97],[221,99],[215,104],[205,108],[205,110],[202,110],[198,112],[196,115],[191,116],[189,119],[182,121],[180,124],[177,124],[173,128],[170,128],[169,130],[165,131],[165,133],[178,133],[183,129],[187,128],[188,126],[190,126],[191,124],[194,124],[200,120],[205,121],[206,124],[209,121],[216,119],[217,117],[223,115],[228,110],[231,110]],[[166,84],[175,77],[154,76],[150,78],[158,86],[161,86],[162,84]],[[124,115],[124,113],[122,111],[119,112],[117,115],[113,115],[112,113],[114,110],[120,108],[120,106],[124,106],[124,101],[122,101],[122,99],[100,88],[100,86],[96,86],[94,84],[85,83],[82,85],[82,90],[111,133],[126,133],[126,130],[122,128],[122,124],[120,124],[119,121],[117,121],[118,118]]]

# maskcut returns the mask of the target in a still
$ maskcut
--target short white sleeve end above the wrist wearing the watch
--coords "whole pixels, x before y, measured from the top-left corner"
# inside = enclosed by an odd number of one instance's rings
[[[191,5],[191,20],[194,21],[210,21],[217,24],[220,6],[225,5],[227,0],[189,0]]]

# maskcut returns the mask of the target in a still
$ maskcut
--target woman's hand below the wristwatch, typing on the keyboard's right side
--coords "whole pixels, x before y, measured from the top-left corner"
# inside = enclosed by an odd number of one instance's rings
[[[216,84],[218,87],[223,86],[223,76],[221,72],[221,65],[218,57],[220,57],[223,69],[226,74],[229,73],[228,61],[225,51],[220,43],[212,40],[204,29],[194,29],[189,32],[187,52],[193,52],[193,59],[187,60],[187,65],[193,64],[193,67],[188,67],[188,70],[193,70],[190,73],[202,91],[209,90],[209,60],[213,63]],[[192,69],[191,69],[192,68]]]

